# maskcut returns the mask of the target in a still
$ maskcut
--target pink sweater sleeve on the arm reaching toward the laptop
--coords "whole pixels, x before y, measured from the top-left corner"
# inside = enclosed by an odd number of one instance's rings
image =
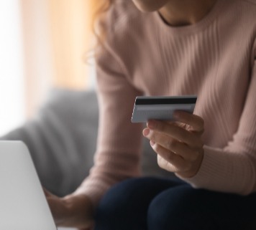
[[[76,193],[96,206],[106,190],[124,178],[140,175],[142,125],[131,123],[135,97],[141,92],[129,82],[124,64],[106,44],[96,57],[99,132],[94,166]]]

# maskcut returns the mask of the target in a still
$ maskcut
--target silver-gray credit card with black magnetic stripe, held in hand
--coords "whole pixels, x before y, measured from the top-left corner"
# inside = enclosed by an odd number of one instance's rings
[[[132,123],[147,123],[147,120],[173,120],[175,110],[193,113],[196,100],[196,95],[136,97]]]

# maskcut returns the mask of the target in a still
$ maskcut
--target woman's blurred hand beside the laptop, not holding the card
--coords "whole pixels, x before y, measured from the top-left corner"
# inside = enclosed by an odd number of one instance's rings
[[[93,227],[93,208],[87,196],[70,194],[60,198],[44,191],[57,226],[86,230]]]

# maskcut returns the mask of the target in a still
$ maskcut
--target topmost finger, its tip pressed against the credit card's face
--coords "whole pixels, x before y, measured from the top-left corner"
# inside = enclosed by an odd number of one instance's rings
[[[175,111],[173,116],[176,121],[189,125],[191,131],[203,133],[204,132],[204,119],[198,115],[191,114],[184,111]]]

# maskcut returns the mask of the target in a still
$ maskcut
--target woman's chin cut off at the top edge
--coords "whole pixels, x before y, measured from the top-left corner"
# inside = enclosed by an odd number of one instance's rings
[[[137,9],[142,12],[152,12],[161,9],[168,0],[132,0]]]

